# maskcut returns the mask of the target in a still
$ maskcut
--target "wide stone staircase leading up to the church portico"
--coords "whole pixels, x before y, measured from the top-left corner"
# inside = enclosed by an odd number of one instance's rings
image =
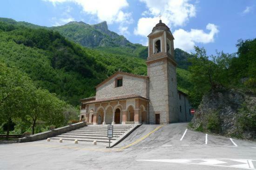
[[[121,125],[115,124],[113,127],[113,138],[111,138],[110,143],[116,143],[121,136],[125,135],[128,131],[133,129],[133,125]],[[74,131],[69,131],[61,135],[52,137],[51,139],[63,141],[74,141],[78,140],[79,142],[93,142],[108,144],[109,138],[108,135],[108,125],[88,125]]]

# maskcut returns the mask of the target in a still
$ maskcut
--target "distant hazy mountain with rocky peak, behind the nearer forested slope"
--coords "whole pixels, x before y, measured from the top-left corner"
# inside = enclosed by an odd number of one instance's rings
[[[63,26],[38,26],[27,22],[17,22],[12,19],[0,18],[0,21],[15,24],[18,26],[26,26],[29,28],[45,28],[58,31],[62,36],[74,41],[84,47],[93,48],[98,51],[109,52],[112,54],[125,55],[128,57],[139,57],[147,59],[148,47],[141,44],[133,44],[124,36],[108,30],[107,22],[101,22],[95,25],[89,25],[82,21],[69,22]],[[188,58],[191,55],[183,50],[175,49],[175,60],[179,68],[188,69]]]

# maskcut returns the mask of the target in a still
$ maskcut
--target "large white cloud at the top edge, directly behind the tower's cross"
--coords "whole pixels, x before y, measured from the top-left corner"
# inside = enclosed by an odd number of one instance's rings
[[[183,26],[191,17],[195,17],[195,6],[189,0],[140,0],[148,8],[142,15],[150,15],[138,20],[136,35],[146,36],[158,23],[158,15],[162,15],[162,22],[168,26]]]

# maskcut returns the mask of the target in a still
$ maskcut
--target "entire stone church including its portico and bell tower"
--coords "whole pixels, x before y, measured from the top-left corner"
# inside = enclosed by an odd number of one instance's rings
[[[148,75],[115,72],[81,99],[88,124],[169,124],[190,121],[188,96],[177,90],[174,37],[162,20],[148,35]]]

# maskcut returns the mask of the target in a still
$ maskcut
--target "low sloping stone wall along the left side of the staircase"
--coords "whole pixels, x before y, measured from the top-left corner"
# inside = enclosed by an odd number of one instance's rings
[[[54,136],[60,135],[62,133],[66,133],[67,131],[73,131],[75,129],[84,127],[86,125],[87,125],[86,122],[79,122],[77,124],[60,127],[60,128],[54,129],[52,131],[45,131],[42,133],[30,135],[28,137],[22,137],[18,140],[18,142],[33,142],[33,141],[37,141],[37,140],[43,140],[43,139],[47,139],[48,137],[54,137]]]

